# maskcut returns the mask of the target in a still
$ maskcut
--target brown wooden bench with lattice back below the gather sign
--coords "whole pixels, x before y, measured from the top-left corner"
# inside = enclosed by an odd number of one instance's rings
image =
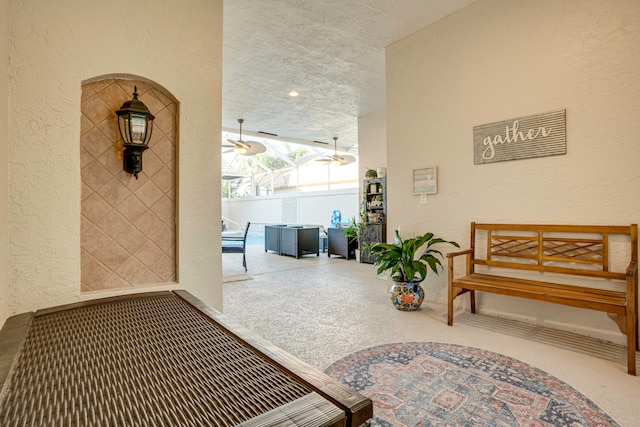
[[[627,238],[630,241],[630,262],[624,271],[612,271],[609,239],[612,235],[628,236],[623,236],[625,245]],[[480,245],[476,247],[476,243],[484,238],[485,251]],[[466,255],[466,275],[454,277],[454,259],[460,255]],[[636,374],[636,349],[639,349],[636,224],[583,226],[472,222],[471,247],[449,253],[447,258],[449,325],[453,324],[453,300],[458,295],[468,292],[471,312],[476,312],[475,291],[603,311],[627,335],[627,368],[629,374]],[[478,272],[476,266],[481,266]],[[535,279],[515,277],[533,274],[537,274]],[[571,282],[582,278],[579,280],[585,283],[580,285],[585,286],[559,283],[563,281],[558,280],[560,277],[573,277]],[[614,290],[616,286],[619,290]]]

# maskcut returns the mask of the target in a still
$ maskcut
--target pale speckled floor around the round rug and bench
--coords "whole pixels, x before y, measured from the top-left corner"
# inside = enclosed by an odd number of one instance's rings
[[[225,276],[244,274],[241,255],[224,254],[222,261]],[[542,369],[620,425],[640,426],[640,376],[627,375],[619,345],[483,315],[457,314],[449,327],[446,307],[430,302],[401,312],[389,302],[389,282],[371,265],[326,253],[295,259],[254,244],[248,246],[247,264],[251,280],[224,284],[225,314],[318,369],[383,343],[467,345]]]

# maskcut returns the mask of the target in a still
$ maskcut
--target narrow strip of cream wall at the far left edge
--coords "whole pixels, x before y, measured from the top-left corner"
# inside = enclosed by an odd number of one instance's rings
[[[9,206],[9,0],[0,0],[0,325],[9,317],[7,209]]]

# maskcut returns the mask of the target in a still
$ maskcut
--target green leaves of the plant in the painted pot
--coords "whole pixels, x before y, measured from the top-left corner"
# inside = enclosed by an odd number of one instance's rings
[[[377,274],[389,271],[391,280],[397,282],[418,282],[427,277],[429,269],[436,274],[438,267],[442,267],[440,259],[442,253],[433,246],[447,243],[459,248],[456,242],[435,237],[433,233],[426,233],[410,239],[403,239],[398,230],[393,243],[375,243],[369,250],[376,255],[374,267]],[[424,248],[423,248],[424,247]],[[417,256],[420,250],[423,252]]]

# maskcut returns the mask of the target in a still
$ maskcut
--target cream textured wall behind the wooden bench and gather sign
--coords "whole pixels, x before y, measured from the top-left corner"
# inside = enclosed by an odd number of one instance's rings
[[[387,108],[390,233],[467,246],[473,220],[640,222],[637,0],[479,0],[388,47]],[[563,108],[566,155],[473,164],[474,126]],[[429,165],[439,192],[421,205],[411,171]],[[428,298],[445,302],[446,272],[428,283]],[[480,304],[622,342],[602,313],[493,295]]]

